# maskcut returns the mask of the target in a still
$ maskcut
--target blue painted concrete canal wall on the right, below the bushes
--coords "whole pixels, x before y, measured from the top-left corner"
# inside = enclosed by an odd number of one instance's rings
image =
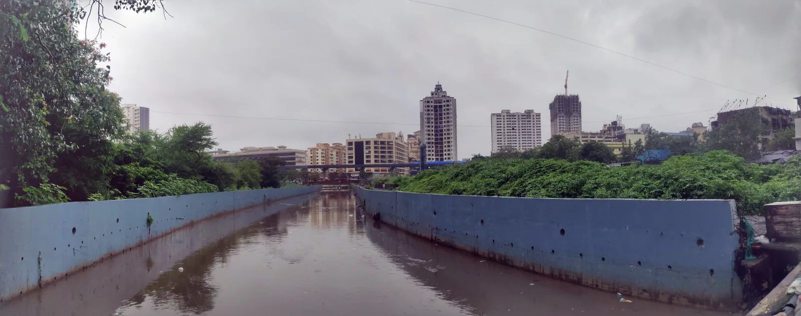
[[[735,310],[742,298],[733,201],[501,198],[353,187],[381,222],[553,278],[714,310]]]

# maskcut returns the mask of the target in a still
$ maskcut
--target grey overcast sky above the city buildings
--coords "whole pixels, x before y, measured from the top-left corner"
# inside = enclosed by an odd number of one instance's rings
[[[427,2],[767,94],[768,105],[795,110],[792,98],[801,95],[801,0]],[[123,103],[149,107],[151,129],[210,123],[225,150],[411,134],[419,101],[437,82],[457,98],[457,123],[465,125],[457,130],[459,158],[489,154],[489,114],[500,110],[542,113],[545,142],[548,104],[564,93],[566,70],[569,92],[582,98],[584,130],[618,114],[626,126],[706,126],[727,100],[755,98],[552,34],[406,0],[165,4],[174,18],[108,6],[107,15],[127,26],[105,22],[99,38],[111,52],[111,90]]]

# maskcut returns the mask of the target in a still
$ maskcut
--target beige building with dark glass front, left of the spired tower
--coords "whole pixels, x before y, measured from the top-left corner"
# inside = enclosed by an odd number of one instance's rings
[[[348,139],[345,162],[348,165],[365,165],[364,171],[372,173],[374,177],[388,177],[392,174],[388,167],[370,167],[388,163],[409,163],[409,144],[403,134],[395,132],[379,133],[376,138]],[[408,167],[395,168],[398,175],[409,175]],[[358,173],[353,168],[349,173]]]

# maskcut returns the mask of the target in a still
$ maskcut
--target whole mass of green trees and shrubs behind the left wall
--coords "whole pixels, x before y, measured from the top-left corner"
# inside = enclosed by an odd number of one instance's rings
[[[101,2],[89,8],[98,21]],[[114,2],[135,12],[159,3]],[[280,158],[213,162],[202,122],[128,134],[107,89],[111,66],[99,66],[111,53],[78,37],[86,8],[64,4],[0,2],[0,194],[14,206],[278,187],[303,175],[280,171]]]

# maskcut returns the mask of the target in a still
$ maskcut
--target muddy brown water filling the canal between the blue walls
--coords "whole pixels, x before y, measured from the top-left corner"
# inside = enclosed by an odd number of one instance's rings
[[[265,216],[271,207],[282,211]],[[362,215],[347,192],[235,212],[4,302],[0,315],[728,315],[620,302]]]

